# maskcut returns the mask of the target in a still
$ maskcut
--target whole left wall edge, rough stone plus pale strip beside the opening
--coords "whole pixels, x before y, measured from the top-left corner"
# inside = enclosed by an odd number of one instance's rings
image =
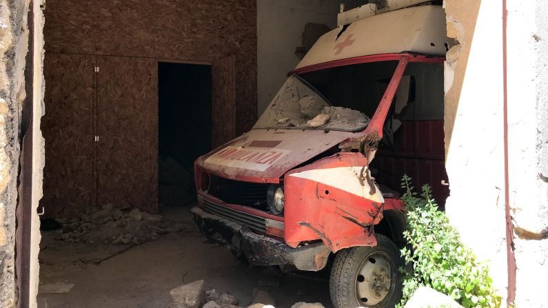
[[[40,133],[40,118],[43,114],[43,15],[42,1],[33,1],[34,39],[29,49],[28,12],[29,1],[0,1],[0,307],[17,305],[18,281],[15,268],[15,237],[17,209],[17,178],[19,176],[19,154],[21,144],[21,112],[32,104],[34,125],[28,132],[34,139],[32,161],[32,196],[30,221],[30,294],[29,307],[36,307],[38,291],[38,252],[40,242],[37,205],[41,198],[41,170],[43,167],[43,138]],[[32,53],[32,68],[28,68],[26,80],[26,57]],[[26,89],[26,83],[30,88]],[[32,91],[32,100],[27,99]],[[21,215],[17,209],[17,215]],[[21,216],[19,216],[21,217]],[[17,228],[17,238],[21,236],[21,220]],[[19,242],[17,243],[20,244]],[[19,269],[17,270],[20,273]]]

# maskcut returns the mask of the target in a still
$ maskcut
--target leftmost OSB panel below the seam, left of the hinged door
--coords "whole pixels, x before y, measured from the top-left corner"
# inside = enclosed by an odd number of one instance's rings
[[[94,59],[68,54],[44,59],[48,112],[41,130],[48,142],[41,204],[48,216],[70,216],[94,203]]]

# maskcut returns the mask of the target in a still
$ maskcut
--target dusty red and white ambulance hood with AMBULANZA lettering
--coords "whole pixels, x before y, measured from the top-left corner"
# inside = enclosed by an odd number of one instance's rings
[[[251,130],[196,160],[206,172],[239,181],[279,183],[288,170],[358,132]]]

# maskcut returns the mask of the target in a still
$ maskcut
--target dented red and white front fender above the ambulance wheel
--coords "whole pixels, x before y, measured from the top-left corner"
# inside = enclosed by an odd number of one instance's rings
[[[372,226],[383,218],[383,195],[361,153],[338,153],[287,172],[285,241],[321,239],[331,251],[374,246]]]

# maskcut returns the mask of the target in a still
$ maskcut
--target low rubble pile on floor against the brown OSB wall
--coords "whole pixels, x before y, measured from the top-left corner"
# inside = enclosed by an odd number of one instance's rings
[[[161,215],[129,207],[114,208],[111,204],[58,221],[61,229],[57,230],[57,239],[68,243],[136,245],[183,229],[181,223],[165,220]]]

